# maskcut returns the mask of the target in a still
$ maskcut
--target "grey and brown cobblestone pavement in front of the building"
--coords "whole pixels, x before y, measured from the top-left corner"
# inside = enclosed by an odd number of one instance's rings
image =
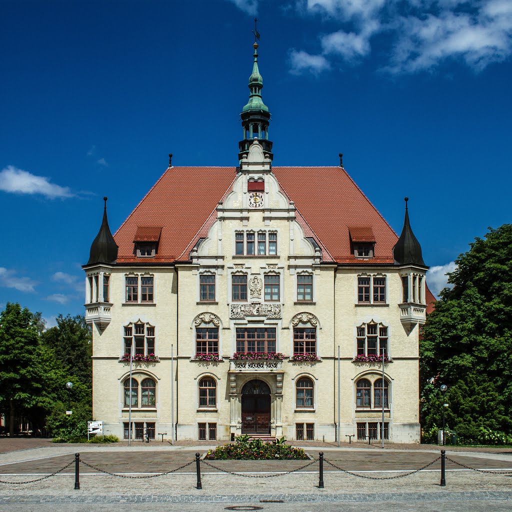
[[[401,450],[378,450],[352,445],[309,447],[307,452],[318,457],[324,451],[326,460],[366,477],[397,476],[416,470],[440,454],[439,447],[417,450],[418,445]],[[143,473],[165,472],[186,462],[194,461],[197,451],[205,453],[207,446],[170,446],[165,443],[125,445],[66,445],[44,444],[0,454],[0,480],[26,481],[48,475],[73,461],[80,452],[83,461],[105,471],[149,476]],[[507,453],[508,452],[508,453]],[[0,484],[0,510],[24,512],[121,512],[151,510],[195,510],[194,503],[208,502],[209,512],[223,510],[228,505],[263,506],[267,512],[317,510],[322,502],[324,512],[355,510],[362,502],[372,506],[385,503],[387,512],[425,510],[425,512],[466,512],[471,506],[479,510],[509,510],[512,505],[512,456],[510,450],[500,453],[447,451],[447,455],[467,466],[503,470],[508,475],[495,475],[465,470],[447,462],[446,487],[439,486],[439,461],[427,470],[403,478],[369,480],[339,472],[325,463],[324,488],[318,488],[318,462],[305,470],[267,478],[249,478],[220,473],[201,463],[202,486],[196,489],[195,463],[177,473],[154,478],[120,478],[103,475],[80,465],[80,489],[74,490],[74,465],[62,474],[24,485]],[[211,461],[231,472],[251,473],[263,477],[295,470],[311,461]],[[138,473],[138,475],[134,475]],[[263,503],[262,503],[263,500]],[[271,503],[282,501],[283,503]],[[316,508],[315,504],[316,503]],[[122,505],[123,504],[123,505]],[[287,505],[288,504],[288,505]],[[294,505],[295,504],[295,505]],[[163,506],[165,505],[165,506]],[[484,506],[485,505],[485,506]],[[51,507],[51,509],[50,509]]]

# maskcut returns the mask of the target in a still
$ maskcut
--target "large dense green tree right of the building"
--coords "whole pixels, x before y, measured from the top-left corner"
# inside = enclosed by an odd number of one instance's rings
[[[420,343],[423,430],[446,424],[464,438],[512,431],[512,225],[489,228],[460,254]]]

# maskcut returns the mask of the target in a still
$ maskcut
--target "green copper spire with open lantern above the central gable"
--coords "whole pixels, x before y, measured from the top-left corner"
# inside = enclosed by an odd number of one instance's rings
[[[254,35],[259,38],[259,33]],[[268,124],[270,122],[270,111],[268,106],[263,103],[261,90],[263,88],[263,77],[258,68],[258,43],[254,42],[254,63],[252,65],[252,73],[249,77],[249,101],[242,109],[240,117],[242,119],[243,140],[239,146],[239,160],[242,160],[249,152],[250,145],[258,138],[259,143],[263,147],[263,153],[270,159],[272,155],[272,142],[268,140]]]

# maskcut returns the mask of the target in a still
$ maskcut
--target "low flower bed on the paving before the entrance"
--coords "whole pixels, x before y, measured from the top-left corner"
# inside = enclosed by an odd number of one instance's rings
[[[261,439],[236,442],[208,450],[207,460],[304,460],[309,457],[302,448],[283,443],[264,443]]]

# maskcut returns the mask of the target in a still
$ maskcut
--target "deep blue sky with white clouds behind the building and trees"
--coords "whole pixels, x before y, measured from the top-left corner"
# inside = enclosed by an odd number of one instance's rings
[[[83,312],[114,232],[174,165],[237,165],[253,21],[274,165],[337,165],[400,232],[433,291],[510,222],[508,0],[0,0],[0,307]],[[211,151],[211,143],[215,151]],[[340,205],[342,207],[343,205]]]

